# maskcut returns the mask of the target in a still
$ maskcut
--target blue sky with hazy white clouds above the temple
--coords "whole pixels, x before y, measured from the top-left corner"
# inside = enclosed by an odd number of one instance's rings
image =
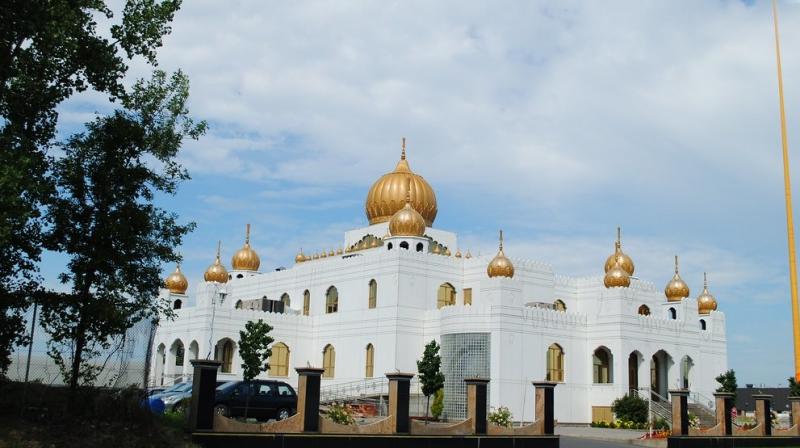
[[[800,198],[800,2],[779,8]],[[639,277],[666,284],[678,254],[694,300],[708,272],[740,384],[793,374],[766,1],[191,0],[159,61],[209,124],[180,154],[192,180],[158,200],[197,223],[190,283],[217,240],[230,266],[246,223],[262,270],[339,247],[406,137],[462,251],[493,253],[502,228],[511,257],[602,275],[622,226]],[[78,95],[60,127],[109,107]]]

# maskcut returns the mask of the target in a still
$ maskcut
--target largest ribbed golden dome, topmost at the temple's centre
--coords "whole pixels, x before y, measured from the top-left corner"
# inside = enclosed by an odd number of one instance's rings
[[[406,193],[411,196],[411,207],[425,219],[425,225],[432,226],[438,211],[436,194],[430,184],[408,166],[404,138],[403,152],[394,171],[381,176],[369,189],[364,203],[369,223],[378,224],[392,219],[395,213],[403,209]]]

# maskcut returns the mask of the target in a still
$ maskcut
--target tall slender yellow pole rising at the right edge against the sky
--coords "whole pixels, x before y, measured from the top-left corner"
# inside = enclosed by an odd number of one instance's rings
[[[781,44],[778,39],[778,6],[772,0],[772,18],[775,21],[775,55],[778,61],[778,98],[781,109],[781,146],[783,147],[783,188],[786,196],[786,230],[789,239],[789,282],[792,291],[792,333],[794,336],[794,377],[800,381],[800,315],[797,310],[797,255],[794,246],[794,220],[792,218],[792,186],[789,180],[789,144],[786,140],[786,112],[783,106],[783,74],[781,73]]]

